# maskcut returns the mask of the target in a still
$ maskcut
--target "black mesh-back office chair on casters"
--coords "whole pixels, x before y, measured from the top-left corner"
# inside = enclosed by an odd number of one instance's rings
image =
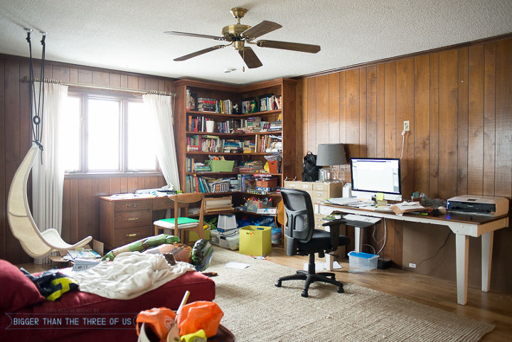
[[[287,236],[287,255],[309,255],[308,270],[298,270],[297,274],[281,277],[275,282],[275,286],[281,287],[285,280],[302,279],[306,280],[302,296],[308,296],[309,285],[312,282],[326,282],[338,286],[338,292],[343,293],[343,284],[336,280],[331,272],[315,272],[314,255],[324,257],[325,252],[334,252],[338,245],[348,245],[350,239],[345,235],[339,235],[340,225],[345,221],[335,220],[324,223],[329,225],[330,232],[315,229],[313,205],[311,197],[306,191],[297,189],[281,189],[284,211],[287,215],[287,225],[284,235]]]

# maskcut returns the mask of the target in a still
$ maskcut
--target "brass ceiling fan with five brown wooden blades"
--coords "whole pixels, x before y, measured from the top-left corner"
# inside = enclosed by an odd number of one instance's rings
[[[230,42],[226,45],[217,45],[203,50],[198,50],[194,53],[189,53],[188,55],[183,55],[181,57],[175,58],[174,60],[188,60],[189,58],[193,58],[198,55],[203,55],[203,53],[208,53],[213,50],[225,48],[226,46],[233,46],[236,50],[238,50],[238,53],[240,53],[240,56],[247,65],[247,68],[260,68],[260,66],[262,66],[260,58],[257,58],[257,55],[252,50],[252,48],[250,48],[250,46],[247,46],[246,44],[260,46],[260,48],[279,48],[283,50],[294,50],[306,53],[319,52],[320,46],[317,45],[290,43],[287,41],[254,41],[255,38],[263,36],[265,33],[275,31],[277,30],[277,28],[282,28],[282,26],[279,25],[279,23],[274,23],[272,21],[266,20],[252,27],[249,25],[241,24],[240,18],[243,18],[243,16],[245,16],[246,13],[247,9],[243,9],[242,7],[235,7],[234,9],[231,9],[231,14],[233,14],[233,16],[237,18],[238,23],[235,23],[235,25],[224,26],[222,29],[222,36],[209,36],[205,34],[186,33],[178,31],[164,32],[179,36],[210,38],[214,39],[215,41]]]

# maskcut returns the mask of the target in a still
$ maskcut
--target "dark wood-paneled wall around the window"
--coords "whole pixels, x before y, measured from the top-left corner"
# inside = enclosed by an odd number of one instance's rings
[[[35,74],[40,67],[36,63]],[[28,109],[28,60],[0,55],[0,258],[10,262],[30,262],[12,235],[6,218],[6,200],[11,180],[31,146],[31,119]],[[150,75],[123,73],[116,70],[47,62],[45,78],[87,85],[124,89],[174,91],[173,81]],[[84,88],[80,88],[83,90]],[[70,87],[70,90],[73,90]],[[96,93],[105,92],[94,90]],[[112,93],[112,92],[110,92]],[[99,238],[98,196],[133,192],[165,184],[161,176],[73,176],[65,178],[63,198],[63,238],[76,242],[92,235]]]

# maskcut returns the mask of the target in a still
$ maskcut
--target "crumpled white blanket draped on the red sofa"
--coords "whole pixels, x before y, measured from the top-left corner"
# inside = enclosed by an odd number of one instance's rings
[[[187,262],[171,266],[163,255],[142,255],[124,252],[113,262],[101,262],[70,276],[80,284],[80,291],[98,294],[110,299],[133,299],[176,279],[194,267]]]

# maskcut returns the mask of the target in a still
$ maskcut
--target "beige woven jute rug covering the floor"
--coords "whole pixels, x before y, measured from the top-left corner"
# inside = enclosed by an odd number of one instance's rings
[[[250,264],[245,269],[227,262]],[[215,248],[208,268],[218,272],[215,302],[224,311],[220,322],[238,342],[260,341],[479,341],[494,326],[383,294],[358,285],[336,287],[314,283],[309,297],[301,281],[277,278],[295,270]]]

